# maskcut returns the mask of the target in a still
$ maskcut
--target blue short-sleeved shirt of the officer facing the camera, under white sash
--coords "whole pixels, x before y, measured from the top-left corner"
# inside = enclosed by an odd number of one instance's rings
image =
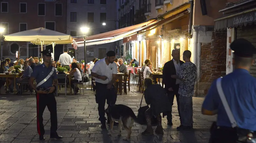
[[[37,84],[38,84],[39,82],[44,80],[44,78],[46,78],[51,71],[52,71],[52,66],[49,66],[47,68],[43,63],[41,65],[35,66],[32,74],[31,74],[31,77],[34,77],[36,79]],[[54,69],[54,72],[53,72],[52,76],[47,81],[45,81],[42,85],[40,85],[39,87],[45,88],[45,89],[51,87],[52,84],[53,84],[53,79],[58,79],[55,69]]]

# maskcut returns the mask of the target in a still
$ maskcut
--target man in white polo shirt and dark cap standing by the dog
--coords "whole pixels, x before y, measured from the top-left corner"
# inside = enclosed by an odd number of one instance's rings
[[[98,103],[99,121],[101,128],[106,128],[105,103],[108,105],[116,104],[116,91],[114,83],[116,82],[117,66],[114,63],[116,53],[108,51],[107,57],[95,63],[91,70],[91,76],[95,77],[96,83],[96,103]]]

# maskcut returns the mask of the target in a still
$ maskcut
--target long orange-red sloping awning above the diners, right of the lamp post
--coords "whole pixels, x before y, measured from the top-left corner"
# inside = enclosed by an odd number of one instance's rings
[[[133,26],[129,26],[129,27],[125,27],[125,28],[121,28],[121,29],[117,29],[117,30],[97,34],[97,35],[88,36],[88,37],[86,37],[86,40],[88,40],[86,42],[112,39],[117,35],[124,34],[126,32],[129,32],[131,30],[134,30],[134,29],[146,26],[146,25],[150,25],[154,22],[156,22],[156,20],[151,20],[151,21],[140,23],[140,24],[137,24],[137,25],[133,25]],[[76,39],[76,42],[77,42],[77,44],[84,43],[84,38]]]

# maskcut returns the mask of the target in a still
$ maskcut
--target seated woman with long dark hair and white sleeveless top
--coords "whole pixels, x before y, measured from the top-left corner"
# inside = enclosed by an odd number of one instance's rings
[[[71,88],[73,88],[74,94],[76,95],[77,92],[79,91],[79,88],[77,87],[76,89],[74,89],[75,88],[74,83],[82,82],[82,76],[81,76],[81,72],[79,71],[78,66],[75,62],[71,64],[70,75],[74,76],[74,79],[71,80]]]

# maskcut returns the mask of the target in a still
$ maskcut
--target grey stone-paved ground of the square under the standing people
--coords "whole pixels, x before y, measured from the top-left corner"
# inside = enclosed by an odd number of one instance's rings
[[[128,105],[135,114],[140,105],[142,94],[136,87],[132,87],[127,95],[118,95],[116,104]],[[34,95],[0,95],[0,143],[35,143],[40,142],[36,127],[36,98]],[[122,137],[117,136],[117,128],[109,137],[107,131],[102,131],[98,121],[97,104],[94,92],[86,90],[85,95],[60,95],[56,97],[58,113],[58,133],[62,140],[49,139],[50,112],[44,111],[45,141],[44,142],[79,142],[79,143],[125,143],[122,138],[126,136],[123,129]],[[144,137],[141,132],[145,125],[135,124],[132,128],[131,143],[164,143],[164,142],[208,142],[209,128],[215,117],[201,115],[203,98],[193,98],[194,130],[180,132],[176,127],[180,125],[177,104],[173,106],[173,126],[167,126],[166,118],[162,125],[164,135]],[[174,101],[176,102],[176,100]],[[143,101],[143,105],[145,102]]]

